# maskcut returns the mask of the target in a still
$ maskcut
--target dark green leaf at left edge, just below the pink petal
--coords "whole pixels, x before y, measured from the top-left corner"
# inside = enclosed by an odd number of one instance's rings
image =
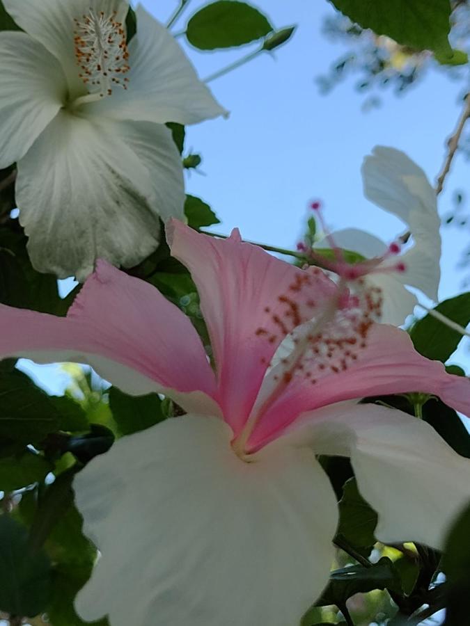
[[[49,396],[21,371],[0,373],[0,400],[0,436],[31,444],[58,427]]]

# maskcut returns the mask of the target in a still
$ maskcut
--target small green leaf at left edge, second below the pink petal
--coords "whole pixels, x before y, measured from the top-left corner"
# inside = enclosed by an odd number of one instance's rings
[[[21,456],[0,458],[0,490],[15,491],[43,481],[53,469],[45,458],[30,451]]]

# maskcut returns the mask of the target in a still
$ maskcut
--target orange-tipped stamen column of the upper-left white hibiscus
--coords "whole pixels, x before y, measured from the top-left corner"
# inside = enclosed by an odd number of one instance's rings
[[[80,67],[79,77],[95,100],[113,93],[113,87],[127,89],[130,70],[127,64],[126,33],[122,22],[116,21],[116,11],[106,15],[90,8],[88,15],[75,18],[75,56]]]

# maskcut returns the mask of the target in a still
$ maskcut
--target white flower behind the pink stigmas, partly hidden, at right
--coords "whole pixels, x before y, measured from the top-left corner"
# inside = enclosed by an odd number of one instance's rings
[[[441,222],[434,189],[412,159],[391,147],[377,146],[362,166],[364,193],[368,200],[405,222],[413,245],[402,254],[396,243],[387,245],[376,236],[349,228],[331,233],[315,244],[359,252],[372,259],[363,280],[368,287],[382,291],[380,321],[400,326],[413,312],[416,296],[406,287],[415,287],[431,300],[437,300],[440,280]]]

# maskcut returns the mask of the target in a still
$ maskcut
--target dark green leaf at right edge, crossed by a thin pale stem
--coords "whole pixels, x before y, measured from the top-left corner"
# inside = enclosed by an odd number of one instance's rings
[[[467,326],[470,322],[470,291],[444,300],[434,310],[460,326]],[[409,336],[420,354],[442,362],[448,360],[462,339],[460,332],[449,328],[429,313],[414,324]]]

